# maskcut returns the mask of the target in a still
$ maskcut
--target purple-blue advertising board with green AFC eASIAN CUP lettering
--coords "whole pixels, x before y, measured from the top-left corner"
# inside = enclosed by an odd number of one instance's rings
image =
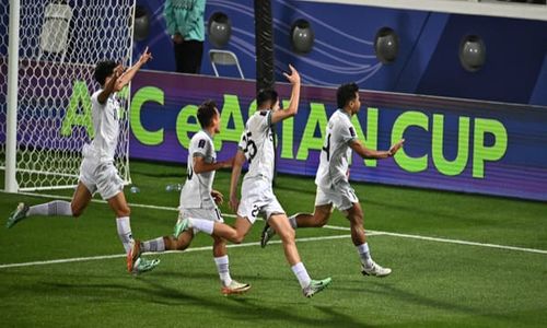
[[[222,118],[218,157],[233,156],[256,108],[255,87],[253,81],[140,72],[131,89],[130,157],[185,163],[200,129],[197,107],[208,98]],[[283,106],[290,87],[278,84]],[[547,108],[371,91],[361,91],[361,102],[352,121],[365,147],[406,143],[394,159],[353,154],[351,180],[547,200]],[[298,115],[276,127],[278,172],[315,176],[336,109],[336,89],[302,87]]]

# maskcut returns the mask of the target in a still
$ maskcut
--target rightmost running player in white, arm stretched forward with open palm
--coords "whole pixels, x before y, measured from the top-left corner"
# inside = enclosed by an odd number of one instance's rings
[[[388,151],[365,148],[357,138],[356,129],[351,124],[351,116],[361,108],[359,86],[356,83],[342,84],[338,87],[336,97],[338,110],[328,120],[325,143],[315,177],[317,185],[315,212],[313,214],[296,213],[290,216],[289,221],[293,229],[323,226],[328,222],[333,206],[336,207],[350,222],[351,239],[361,259],[361,273],[385,277],[392,270],[382,268],[372,260],[363,227],[363,211],[348,180],[349,161],[352,150],[363,159],[392,157],[403,147],[405,140],[399,140]],[[266,247],[275,234],[276,230],[267,222],[260,236],[260,245]]]

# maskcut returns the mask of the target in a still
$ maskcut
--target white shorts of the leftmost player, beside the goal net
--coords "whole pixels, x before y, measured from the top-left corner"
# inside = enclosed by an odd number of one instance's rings
[[[104,200],[124,190],[124,180],[119,177],[114,163],[97,163],[95,160],[84,157],[80,165],[79,179],[91,195],[98,191]]]

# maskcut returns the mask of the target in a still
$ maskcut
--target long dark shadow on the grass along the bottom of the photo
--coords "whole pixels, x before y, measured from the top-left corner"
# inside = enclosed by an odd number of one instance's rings
[[[211,274],[213,276],[213,274]],[[97,277],[94,277],[94,279]],[[202,278],[202,276],[200,276]],[[56,277],[55,279],[58,279]],[[156,281],[159,280],[159,281]],[[265,300],[257,298],[251,291],[246,295],[234,295],[229,297],[214,296],[210,294],[199,296],[195,293],[188,293],[179,289],[173,289],[161,283],[158,277],[139,277],[136,282],[128,283],[126,280],[121,283],[93,283],[93,280],[79,280],[75,282],[58,282],[58,281],[39,281],[33,284],[16,284],[12,290],[18,293],[32,294],[34,296],[48,295],[48,297],[71,297],[88,300],[131,300],[136,306],[143,303],[154,303],[166,306],[182,306],[183,311],[188,306],[199,306],[211,309],[219,314],[219,319],[230,318],[233,320],[245,320],[246,323],[256,323],[257,326],[272,321],[276,324],[286,324],[289,327],[296,325],[314,326],[314,327],[368,327],[363,323],[357,321],[349,315],[337,311],[330,305],[321,305],[328,302],[329,298],[325,294],[316,296],[316,298],[306,300],[303,296],[299,298],[277,298]],[[323,297],[317,298],[317,297]],[[326,301],[325,301],[326,300]],[[268,306],[270,304],[271,306]],[[317,305],[318,304],[318,305]],[[284,307],[284,308],[280,308]],[[299,307],[302,313],[302,307],[310,307],[310,311],[304,313],[307,316],[302,316],[293,309]],[[319,311],[323,315],[312,317],[312,311]],[[191,313],[191,309],[189,309]],[[279,323],[282,321],[282,323]]]

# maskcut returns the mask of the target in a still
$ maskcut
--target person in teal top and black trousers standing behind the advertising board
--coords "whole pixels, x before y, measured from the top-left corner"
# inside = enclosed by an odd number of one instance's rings
[[[163,15],[175,49],[176,71],[199,74],[203,55],[206,0],[166,0]]]

